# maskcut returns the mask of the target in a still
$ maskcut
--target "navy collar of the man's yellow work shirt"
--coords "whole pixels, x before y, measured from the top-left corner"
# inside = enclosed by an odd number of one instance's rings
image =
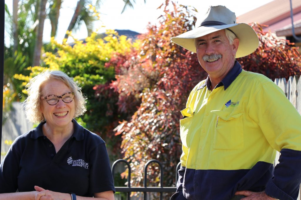
[[[222,81],[216,85],[216,88],[224,85],[224,90],[226,90],[231,85],[231,83],[236,79],[236,77],[240,74],[241,71],[242,71],[241,65],[238,63],[238,61],[235,61],[232,69],[227,73],[227,75],[222,79]],[[205,82],[202,85],[200,85],[199,88],[197,88],[197,90],[202,89],[205,86],[207,87],[208,90],[210,90],[211,81],[209,79],[209,76],[207,77]]]

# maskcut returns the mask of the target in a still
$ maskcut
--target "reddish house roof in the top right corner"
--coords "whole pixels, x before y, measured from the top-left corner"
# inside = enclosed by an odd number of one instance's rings
[[[292,0],[293,19],[301,19],[301,0]],[[276,31],[291,24],[290,0],[274,0],[245,14],[237,16],[238,23],[259,23],[268,25],[264,31]],[[296,33],[297,34],[297,33]]]

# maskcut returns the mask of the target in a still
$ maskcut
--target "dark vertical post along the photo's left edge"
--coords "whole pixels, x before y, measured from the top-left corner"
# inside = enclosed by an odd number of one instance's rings
[[[1,11],[2,10],[2,11]],[[4,16],[5,7],[4,0],[0,0],[0,87],[2,88],[2,93],[0,95],[0,102],[3,102],[3,76],[4,76]],[[0,121],[2,124],[2,112],[3,106],[1,106],[1,117]],[[1,152],[1,142],[2,142],[2,126],[0,130],[0,152]]]

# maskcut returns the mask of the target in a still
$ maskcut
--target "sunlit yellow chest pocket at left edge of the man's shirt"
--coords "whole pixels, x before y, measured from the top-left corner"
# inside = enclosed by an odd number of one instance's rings
[[[194,112],[191,107],[187,107],[184,110],[181,110],[183,118],[180,119],[180,136],[182,145],[186,148],[189,148],[190,145],[190,129],[192,125]]]

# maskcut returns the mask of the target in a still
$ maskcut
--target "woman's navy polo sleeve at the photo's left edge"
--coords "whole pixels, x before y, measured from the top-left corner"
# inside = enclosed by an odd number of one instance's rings
[[[20,148],[18,139],[11,145],[0,164],[0,193],[14,193],[18,189],[20,166]]]

